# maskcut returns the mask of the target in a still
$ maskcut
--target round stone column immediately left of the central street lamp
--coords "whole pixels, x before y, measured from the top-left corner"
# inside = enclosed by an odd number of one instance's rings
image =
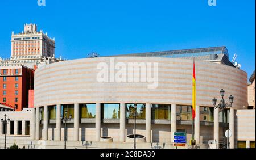
[[[126,105],[120,104],[120,142],[125,142]]]

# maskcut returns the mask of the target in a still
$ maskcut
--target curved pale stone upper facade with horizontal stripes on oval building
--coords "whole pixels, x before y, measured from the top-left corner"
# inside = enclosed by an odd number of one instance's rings
[[[158,63],[158,86],[147,82],[98,82],[97,65],[122,62]],[[153,66],[153,64],[152,64]],[[233,108],[247,106],[247,74],[240,69],[195,61],[196,105],[212,107],[212,99],[234,96]],[[192,105],[193,61],[159,57],[98,57],[49,64],[35,71],[35,106],[74,103],[151,103]],[[118,70],[115,70],[117,73]],[[110,74],[110,73],[109,73]],[[129,73],[127,72],[127,75]],[[152,76],[153,76],[152,71]],[[110,76],[110,75],[109,75]]]

